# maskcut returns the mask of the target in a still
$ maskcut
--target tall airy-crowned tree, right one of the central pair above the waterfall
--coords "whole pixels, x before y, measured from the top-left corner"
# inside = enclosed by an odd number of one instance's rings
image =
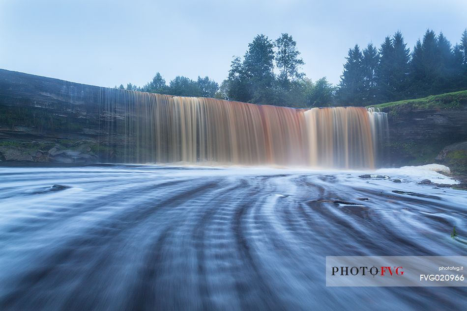
[[[278,80],[282,87],[289,89],[291,80],[300,79],[304,76],[298,69],[305,63],[298,57],[300,52],[296,48],[296,42],[288,33],[282,33],[274,41],[277,49],[275,53],[276,66],[279,68]]]

